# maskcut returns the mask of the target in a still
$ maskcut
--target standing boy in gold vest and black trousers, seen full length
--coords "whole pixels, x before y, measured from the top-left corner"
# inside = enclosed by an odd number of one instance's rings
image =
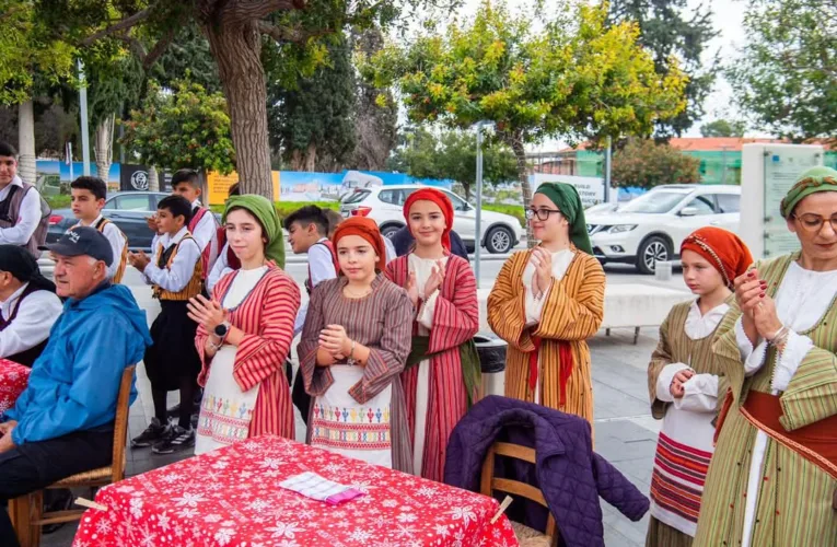
[[[181,196],[160,200],[155,216],[160,233],[151,258],[144,253],[129,254],[128,260],[142,272],[143,280],[153,287],[160,300],[160,315],[151,325],[154,341],[146,350],[143,363],[151,381],[154,417],[131,446],[153,446],[155,454],[171,454],[195,445],[191,410],[197,389],[200,358],[195,350],[197,323],[188,317],[186,305],[204,290],[200,247],[187,224],[191,205]],[[179,389],[179,418],[168,426],[166,394]]]

